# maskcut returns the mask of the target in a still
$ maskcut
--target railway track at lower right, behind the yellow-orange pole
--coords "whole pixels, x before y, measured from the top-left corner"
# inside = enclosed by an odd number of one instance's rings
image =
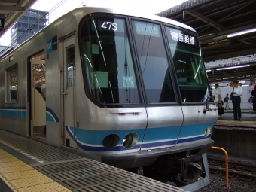
[[[211,175],[226,175],[225,160],[208,157],[209,172]],[[247,181],[256,185],[256,166],[248,163],[240,163],[230,160],[229,178]]]

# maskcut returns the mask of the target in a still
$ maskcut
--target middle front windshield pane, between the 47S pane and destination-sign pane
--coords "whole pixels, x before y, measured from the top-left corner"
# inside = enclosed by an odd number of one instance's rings
[[[148,103],[176,102],[160,26],[137,20],[132,23]]]

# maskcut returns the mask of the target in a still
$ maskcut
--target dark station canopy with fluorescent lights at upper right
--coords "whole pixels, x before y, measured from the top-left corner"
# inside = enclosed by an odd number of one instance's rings
[[[256,31],[228,38],[227,35],[256,29],[256,0],[190,0],[158,13],[196,29],[204,62],[236,58],[256,53]],[[249,59],[249,58],[248,58]],[[209,80],[241,79],[256,75],[250,67],[208,73]]]

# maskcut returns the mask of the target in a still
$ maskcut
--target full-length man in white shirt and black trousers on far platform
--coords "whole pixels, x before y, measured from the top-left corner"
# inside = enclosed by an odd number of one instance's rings
[[[233,104],[233,120],[241,120],[241,96],[242,87],[239,86],[238,81],[233,81],[233,91],[232,91],[232,104]]]

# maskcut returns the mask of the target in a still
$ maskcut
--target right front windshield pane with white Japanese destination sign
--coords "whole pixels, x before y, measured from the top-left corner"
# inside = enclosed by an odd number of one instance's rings
[[[204,102],[209,87],[197,36],[166,26],[182,102]]]

